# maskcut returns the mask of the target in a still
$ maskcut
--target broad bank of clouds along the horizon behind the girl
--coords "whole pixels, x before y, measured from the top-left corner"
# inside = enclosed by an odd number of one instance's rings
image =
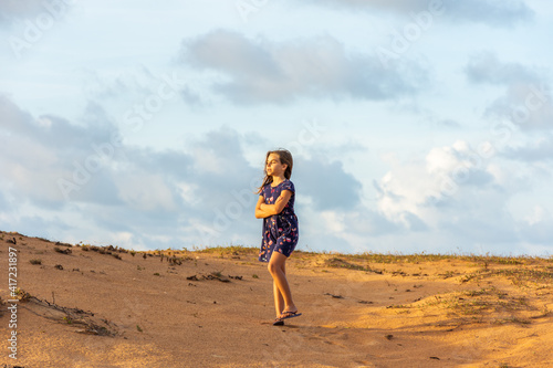
[[[246,159],[251,133],[221,126],[174,150],[123,140],[67,201],[56,180],[72,180],[74,162],[84,166],[91,145],[101,145],[115,129],[102,106],[91,104],[79,122],[35,118],[7,98],[0,106],[6,141],[0,202],[17,204],[1,207],[8,230],[65,241],[117,241],[129,249],[259,244],[261,221],[253,210],[262,157],[259,166]],[[292,177],[300,249],[439,251],[458,245],[501,253],[521,249],[522,242],[547,243],[545,210],[515,220],[505,206],[529,190],[533,169],[500,167],[479,158],[466,141],[435,147],[422,159],[393,161],[375,180],[374,208],[364,204],[367,188],[342,161],[328,158],[334,155],[323,155],[320,144],[304,150],[295,157]]]

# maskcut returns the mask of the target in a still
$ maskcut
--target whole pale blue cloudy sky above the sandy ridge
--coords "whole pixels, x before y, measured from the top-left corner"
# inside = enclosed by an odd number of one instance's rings
[[[553,4],[1,0],[0,229],[260,246],[268,150],[298,250],[553,253]]]

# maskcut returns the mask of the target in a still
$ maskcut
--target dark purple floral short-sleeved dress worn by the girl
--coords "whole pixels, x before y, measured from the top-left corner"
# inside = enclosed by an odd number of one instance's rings
[[[298,244],[298,217],[294,213],[295,189],[290,180],[284,180],[276,187],[265,185],[260,196],[267,204],[274,204],[283,190],[290,190],[292,197],[279,214],[263,219],[263,240],[259,251],[259,261],[269,262],[274,251],[290,256]]]

